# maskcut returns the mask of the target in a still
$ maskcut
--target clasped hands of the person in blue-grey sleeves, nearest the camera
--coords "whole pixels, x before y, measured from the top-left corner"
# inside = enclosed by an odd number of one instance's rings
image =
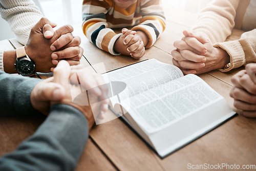
[[[51,105],[58,103],[72,105],[84,114],[90,129],[95,119],[103,119],[104,112],[108,110],[108,87],[102,85],[105,85],[105,82],[101,75],[91,73],[82,65],[70,67],[67,61],[61,60],[53,70],[53,77],[36,84],[30,95],[31,104],[35,110],[45,115],[49,114]],[[88,105],[78,105],[73,102],[72,95],[81,94],[81,89],[91,90],[88,91],[90,98]],[[86,101],[88,96],[85,93],[82,99]],[[92,105],[91,102],[95,101],[92,98],[98,99],[98,102]]]

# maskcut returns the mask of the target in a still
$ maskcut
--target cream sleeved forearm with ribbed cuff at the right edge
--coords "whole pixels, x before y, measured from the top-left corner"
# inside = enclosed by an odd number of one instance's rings
[[[256,29],[242,34],[239,40],[220,42],[214,47],[222,48],[230,56],[230,67],[222,72],[256,62]]]

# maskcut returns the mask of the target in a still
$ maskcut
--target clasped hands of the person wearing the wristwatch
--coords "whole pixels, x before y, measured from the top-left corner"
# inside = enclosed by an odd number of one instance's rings
[[[56,24],[47,18],[41,18],[31,29],[29,40],[25,45],[26,53],[35,62],[36,72],[50,72],[61,59],[70,65],[78,65],[83,49],[79,47],[81,39],[73,36],[73,27],[62,26],[56,31]]]

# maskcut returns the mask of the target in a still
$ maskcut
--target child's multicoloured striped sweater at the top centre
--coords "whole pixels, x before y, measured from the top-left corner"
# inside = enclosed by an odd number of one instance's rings
[[[83,0],[82,29],[86,37],[99,49],[119,55],[114,44],[120,37],[113,28],[133,27],[143,31],[148,37],[150,48],[165,29],[165,17],[161,0],[137,0],[124,9],[113,0]]]

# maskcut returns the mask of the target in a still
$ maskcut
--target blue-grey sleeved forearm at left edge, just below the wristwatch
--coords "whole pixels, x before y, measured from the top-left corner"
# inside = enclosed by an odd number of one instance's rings
[[[29,77],[14,76],[0,71],[0,109],[1,115],[34,114],[30,94],[41,80]]]

